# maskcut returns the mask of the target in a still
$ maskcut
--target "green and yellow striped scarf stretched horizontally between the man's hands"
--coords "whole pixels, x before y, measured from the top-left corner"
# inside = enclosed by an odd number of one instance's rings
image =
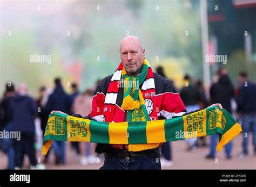
[[[54,113],[45,128],[42,154],[55,141],[110,144],[161,143],[219,133],[217,151],[241,132],[230,113],[209,107],[186,116],[156,121],[108,123]]]

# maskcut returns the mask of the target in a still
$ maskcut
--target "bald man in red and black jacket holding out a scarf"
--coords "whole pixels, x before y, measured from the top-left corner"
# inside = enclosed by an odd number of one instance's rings
[[[153,73],[145,59],[142,42],[137,37],[124,38],[119,53],[122,62],[114,74],[103,78],[98,84],[92,100],[92,111],[85,118],[118,123],[170,119],[186,114],[186,108],[172,84]],[[127,97],[132,97],[132,101]],[[145,105],[137,105],[142,100]],[[51,114],[54,112],[59,111],[52,111]],[[82,117],[79,114],[73,116]],[[160,147],[161,143],[98,143],[95,151],[106,155],[100,169],[161,169]]]

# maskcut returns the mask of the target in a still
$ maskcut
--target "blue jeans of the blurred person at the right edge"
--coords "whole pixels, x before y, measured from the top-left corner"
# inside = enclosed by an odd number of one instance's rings
[[[244,134],[244,140],[242,141],[242,152],[244,154],[248,154],[248,139],[249,139],[249,132],[250,132],[250,125],[252,125],[252,132],[253,132],[253,146],[254,152],[256,152],[256,115],[249,115],[243,114],[242,115],[242,131]],[[247,137],[245,137],[245,133]]]

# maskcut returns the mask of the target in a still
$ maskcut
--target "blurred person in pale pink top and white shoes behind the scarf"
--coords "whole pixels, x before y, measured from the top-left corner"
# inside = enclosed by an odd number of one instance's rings
[[[71,111],[81,116],[87,116],[92,109],[92,97],[93,90],[87,89],[83,93],[80,93],[73,102]],[[80,148],[80,163],[87,165],[88,163],[97,163],[98,157],[95,153],[96,143],[79,142]]]

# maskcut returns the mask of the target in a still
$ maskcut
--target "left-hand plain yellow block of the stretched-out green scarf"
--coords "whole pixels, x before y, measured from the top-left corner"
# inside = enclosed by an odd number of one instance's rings
[[[109,123],[109,143],[128,144],[129,134],[127,133],[128,122]]]

